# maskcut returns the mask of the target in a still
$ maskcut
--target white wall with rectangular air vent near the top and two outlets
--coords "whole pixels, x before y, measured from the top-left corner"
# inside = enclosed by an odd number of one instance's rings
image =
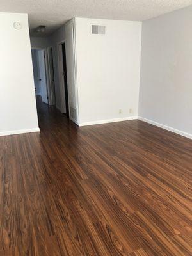
[[[136,118],[141,22],[75,20],[80,125]],[[92,35],[92,24],[105,25],[106,35]]]

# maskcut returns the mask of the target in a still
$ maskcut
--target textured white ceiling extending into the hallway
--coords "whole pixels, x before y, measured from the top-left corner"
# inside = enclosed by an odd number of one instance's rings
[[[1,0],[0,12],[29,14],[34,28],[47,26],[51,35],[72,17],[118,20],[147,20],[192,4],[192,0]]]

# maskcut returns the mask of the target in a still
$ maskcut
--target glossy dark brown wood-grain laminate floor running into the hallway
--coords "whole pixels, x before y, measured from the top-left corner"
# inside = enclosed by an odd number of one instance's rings
[[[192,255],[192,141],[133,120],[0,138],[0,255]]]

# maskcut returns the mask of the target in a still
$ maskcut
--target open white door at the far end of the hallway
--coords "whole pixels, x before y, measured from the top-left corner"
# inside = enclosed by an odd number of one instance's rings
[[[48,104],[44,50],[38,51],[38,68],[39,68],[38,74],[39,74],[40,94],[42,95],[42,101]]]

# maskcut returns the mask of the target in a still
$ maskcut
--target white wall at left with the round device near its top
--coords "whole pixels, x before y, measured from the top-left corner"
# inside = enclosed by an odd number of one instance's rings
[[[39,131],[28,15],[0,13],[0,34],[0,135]]]

